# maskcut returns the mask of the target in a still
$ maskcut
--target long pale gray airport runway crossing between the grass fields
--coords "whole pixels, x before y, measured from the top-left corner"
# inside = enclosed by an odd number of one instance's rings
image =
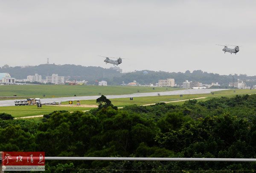
[[[180,94],[209,94],[214,91],[223,91],[227,89],[189,89],[189,90],[176,90],[152,93],[134,93],[124,95],[108,95],[108,99],[129,98],[129,97],[144,97],[144,96],[171,96]],[[58,97],[58,98],[41,98],[41,102],[65,102],[69,100],[93,100],[98,99],[100,96],[76,96],[76,97]],[[0,100],[0,106],[15,106],[15,100]]]

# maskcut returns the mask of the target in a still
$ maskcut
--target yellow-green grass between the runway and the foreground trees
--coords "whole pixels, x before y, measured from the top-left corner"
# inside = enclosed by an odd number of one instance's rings
[[[216,91],[214,94],[187,94],[180,97],[180,95],[174,96],[147,96],[147,97],[134,97],[133,100],[129,98],[122,99],[111,99],[113,105],[118,107],[123,107],[126,105],[145,105],[159,102],[172,102],[177,100],[185,100],[185,99],[195,99],[199,97],[207,97],[205,99],[200,99],[200,101],[205,101],[207,99],[211,99],[212,97],[232,97],[235,95],[241,94],[256,94],[256,90],[247,90],[247,89],[237,89],[234,92],[233,90],[225,90],[225,91]],[[74,102],[76,103],[76,102]],[[67,104],[67,102],[62,102],[62,105]],[[81,104],[83,105],[97,105],[96,100],[81,100]],[[181,105],[183,102],[172,102],[170,104]],[[9,113],[15,117],[23,117],[23,116],[35,116],[35,115],[43,115],[47,113],[51,113],[52,111],[58,110],[66,110],[66,111],[85,111],[90,110],[92,108],[82,108],[82,107],[58,107],[58,106],[45,106],[42,108],[37,108],[37,106],[8,106],[8,107],[0,107],[0,113]]]

